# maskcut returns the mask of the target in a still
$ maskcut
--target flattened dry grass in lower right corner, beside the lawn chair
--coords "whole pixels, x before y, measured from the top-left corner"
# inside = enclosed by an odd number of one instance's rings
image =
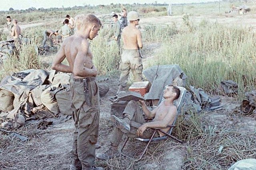
[[[255,158],[255,132],[239,132],[207,122],[201,115],[180,116],[174,134],[187,143],[183,169],[228,169],[238,160]],[[235,121],[234,121],[235,122]]]

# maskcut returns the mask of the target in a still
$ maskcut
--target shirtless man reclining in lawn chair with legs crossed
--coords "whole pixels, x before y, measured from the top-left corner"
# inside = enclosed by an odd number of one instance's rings
[[[179,96],[180,90],[178,87],[172,85],[167,86],[163,95],[165,100],[152,111],[147,108],[144,101],[140,100],[142,111],[146,117],[154,118],[152,122],[147,123],[142,116],[138,103],[134,100],[128,102],[123,112],[123,118],[118,118],[114,115],[110,116],[115,126],[110,139],[110,148],[103,154],[97,154],[96,157],[100,160],[107,160],[114,156],[120,156],[118,146],[124,133],[129,138],[136,138],[138,136],[141,138],[150,138],[154,130],[148,128],[160,128],[164,132],[168,132],[170,128],[166,127],[172,125],[177,114],[177,108],[174,106],[173,102],[179,98]],[[164,134],[158,131],[155,137],[159,136],[164,136]]]

